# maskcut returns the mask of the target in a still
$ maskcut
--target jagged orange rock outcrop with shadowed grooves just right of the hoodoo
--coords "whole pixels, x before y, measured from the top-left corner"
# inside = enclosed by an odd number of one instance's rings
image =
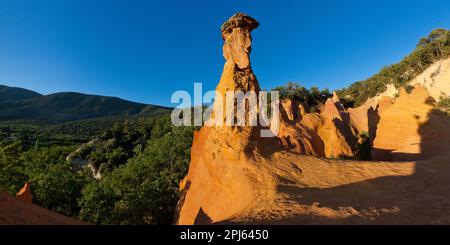
[[[354,156],[356,131],[336,93],[326,101],[320,114],[307,113],[305,106],[292,100],[281,105],[278,137],[285,150],[329,158]]]

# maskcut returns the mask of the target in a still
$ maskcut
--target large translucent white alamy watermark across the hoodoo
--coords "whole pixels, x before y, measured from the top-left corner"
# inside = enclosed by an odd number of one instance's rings
[[[172,94],[171,103],[178,104],[172,111],[174,126],[261,127],[261,137],[278,135],[280,112],[278,91],[208,91],[194,83],[194,100],[187,91]],[[269,116],[270,112],[270,116]]]

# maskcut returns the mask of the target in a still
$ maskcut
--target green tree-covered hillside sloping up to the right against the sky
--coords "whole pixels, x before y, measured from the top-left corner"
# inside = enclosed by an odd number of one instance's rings
[[[353,102],[356,106],[368,98],[386,90],[387,84],[404,87],[406,83],[423,72],[433,62],[450,56],[450,31],[433,30],[422,38],[416,49],[401,62],[387,66],[367,80],[355,82],[348,88],[338,91],[340,98]]]

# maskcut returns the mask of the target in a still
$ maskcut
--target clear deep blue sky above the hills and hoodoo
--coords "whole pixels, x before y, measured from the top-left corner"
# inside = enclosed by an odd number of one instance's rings
[[[235,12],[261,23],[252,66],[266,89],[341,88],[450,28],[448,0],[0,0],[0,84],[171,105],[194,82],[215,88]]]

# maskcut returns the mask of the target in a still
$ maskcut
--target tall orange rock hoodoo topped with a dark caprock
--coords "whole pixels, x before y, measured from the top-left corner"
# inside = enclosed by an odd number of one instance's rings
[[[216,93],[225,96],[227,91],[260,90],[249,58],[251,31],[258,25],[256,20],[240,13],[223,24],[226,62]],[[218,117],[218,103],[214,104],[213,117]],[[222,108],[225,108],[223,115],[226,110],[235,110],[226,108],[225,101]],[[259,133],[257,127],[204,126],[194,134],[189,172],[180,186],[184,194],[178,224],[202,223],[197,219],[200,210],[202,217],[208,216],[206,220],[222,220],[250,204],[251,198],[242,196],[253,196],[254,186],[258,185],[249,181],[261,174],[258,166],[249,164],[250,158],[258,148],[278,147],[275,139],[259,140]]]

